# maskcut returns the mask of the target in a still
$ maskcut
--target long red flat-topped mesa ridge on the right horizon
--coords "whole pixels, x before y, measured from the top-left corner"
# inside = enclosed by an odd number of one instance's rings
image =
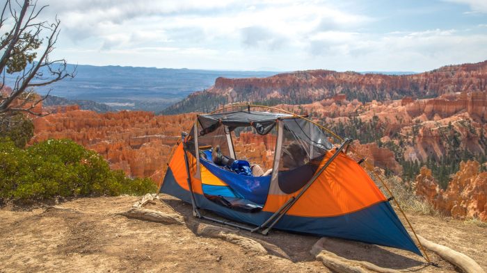
[[[163,110],[163,114],[207,112],[239,101],[276,105],[309,104],[335,94],[350,101],[438,97],[461,91],[486,91],[487,60],[481,63],[448,65],[430,72],[407,75],[360,74],[332,70],[308,70],[277,74],[267,78],[216,78],[205,91]]]

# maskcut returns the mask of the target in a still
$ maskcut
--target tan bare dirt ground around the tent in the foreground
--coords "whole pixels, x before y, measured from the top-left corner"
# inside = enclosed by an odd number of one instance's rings
[[[129,219],[118,213],[141,197],[97,197],[55,206],[0,208],[0,272],[330,272],[310,249],[319,238],[282,231],[241,231],[268,254],[193,232],[191,206],[161,195],[150,208],[184,215],[186,225]],[[487,269],[487,228],[459,220],[408,215],[424,238],[467,254]],[[206,224],[212,222],[203,221]],[[425,265],[407,251],[346,240],[327,250],[401,272],[458,272],[429,252]]]

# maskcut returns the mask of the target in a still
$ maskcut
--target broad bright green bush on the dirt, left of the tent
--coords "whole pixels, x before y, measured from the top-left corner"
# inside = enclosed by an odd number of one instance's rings
[[[154,192],[150,179],[129,179],[112,171],[95,151],[72,140],[46,140],[26,149],[0,140],[0,198],[143,195]]]

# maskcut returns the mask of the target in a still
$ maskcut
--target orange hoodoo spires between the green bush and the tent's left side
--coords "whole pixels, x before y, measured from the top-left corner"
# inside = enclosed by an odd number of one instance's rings
[[[69,138],[104,156],[113,169],[159,183],[173,145],[194,121],[193,114],[156,116],[142,111],[99,114],[63,106],[34,119],[32,142]]]

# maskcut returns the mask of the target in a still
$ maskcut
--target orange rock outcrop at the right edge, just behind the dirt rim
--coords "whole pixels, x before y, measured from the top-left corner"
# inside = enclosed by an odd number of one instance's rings
[[[446,190],[441,190],[431,170],[423,167],[416,177],[416,194],[446,215],[487,221],[487,172],[479,173],[479,166],[477,161],[462,162]]]

